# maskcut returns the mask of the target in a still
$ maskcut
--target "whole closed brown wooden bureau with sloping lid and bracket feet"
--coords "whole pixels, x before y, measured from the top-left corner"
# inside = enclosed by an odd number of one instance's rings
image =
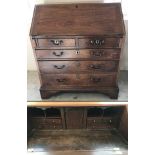
[[[116,99],[124,35],[120,3],[36,5],[30,37],[41,97],[74,91]]]

